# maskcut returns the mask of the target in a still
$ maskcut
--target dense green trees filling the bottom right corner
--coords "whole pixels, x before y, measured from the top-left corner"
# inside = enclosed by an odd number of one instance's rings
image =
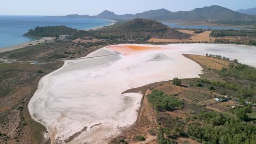
[[[194,117],[187,134],[202,143],[255,143],[256,127],[218,112],[204,112]]]

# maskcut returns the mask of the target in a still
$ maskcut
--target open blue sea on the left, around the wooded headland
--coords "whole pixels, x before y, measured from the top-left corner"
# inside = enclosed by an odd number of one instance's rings
[[[67,26],[77,29],[90,29],[107,26],[113,21],[103,19],[68,19],[44,16],[0,16],[0,48],[13,46],[35,38],[24,37],[28,29],[36,26]]]

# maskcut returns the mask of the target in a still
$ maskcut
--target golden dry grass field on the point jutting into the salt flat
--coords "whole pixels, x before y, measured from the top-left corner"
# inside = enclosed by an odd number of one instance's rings
[[[227,68],[229,66],[229,61],[225,61],[223,59],[218,59],[214,57],[206,57],[206,56],[200,56],[200,55],[184,55],[185,57],[188,57],[195,61],[196,63],[199,63],[201,65],[205,65],[208,68],[222,70],[222,68]]]

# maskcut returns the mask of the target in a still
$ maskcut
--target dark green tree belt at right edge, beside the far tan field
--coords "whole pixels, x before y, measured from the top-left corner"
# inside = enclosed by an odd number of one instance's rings
[[[239,37],[256,37],[256,31],[254,30],[213,30],[211,37],[226,37],[226,36],[239,36]]]

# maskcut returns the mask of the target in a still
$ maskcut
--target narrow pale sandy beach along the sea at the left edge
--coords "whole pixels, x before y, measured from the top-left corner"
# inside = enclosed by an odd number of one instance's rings
[[[36,44],[39,44],[39,43],[43,43],[46,40],[50,41],[50,40],[53,40],[53,39],[54,38],[52,38],[52,37],[45,37],[45,38],[42,38],[42,39],[38,39],[38,40],[34,40],[34,41],[28,41],[26,43],[14,45],[14,46],[3,47],[3,48],[0,48],[0,53],[5,52],[5,51],[12,51],[12,50],[16,50],[16,49],[21,49],[21,48],[26,47],[26,46],[36,45]]]

